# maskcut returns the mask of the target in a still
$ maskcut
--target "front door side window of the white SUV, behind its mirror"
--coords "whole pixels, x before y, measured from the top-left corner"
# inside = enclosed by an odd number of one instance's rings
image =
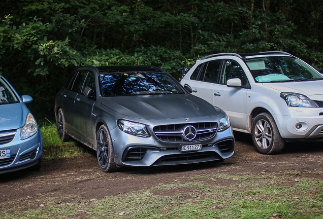
[[[229,79],[234,78],[239,78],[241,80],[242,85],[245,85],[247,82],[246,75],[244,74],[244,71],[238,62],[234,60],[224,60],[220,84],[226,85]]]

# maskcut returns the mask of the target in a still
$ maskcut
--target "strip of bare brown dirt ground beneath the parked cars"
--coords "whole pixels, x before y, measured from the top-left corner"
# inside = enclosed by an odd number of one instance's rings
[[[141,191],[159,184],[169,184],[185,176],[200,174],[263,174],[299,171],[302,177],[323,178],[323,141],[287,143],[278,155],[261,155],[254,151],[251,136],[235,133],[235,154],[223,162],[171,167],[126,168],[105,173],[92,156],[44,160],[39,171],[19,171],[0,175],[0,212],[7,201],[17,200],[26,207],[36,207],[41,200],[75,202]],[[220,182],[225,185],[225,180]],[[219,185],[219,181],[217,181]],[[180,191],[178,191],[180,192]],[[160,194],[167,195],[167,194]]]

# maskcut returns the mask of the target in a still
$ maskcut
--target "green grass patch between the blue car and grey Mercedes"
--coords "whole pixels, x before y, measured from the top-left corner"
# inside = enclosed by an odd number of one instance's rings
[[[91,149],[76,141],[62,142],[56,133],[56,125],[49,120],[40,126],[43,135],[43,158],[70,158],[89,155]]]

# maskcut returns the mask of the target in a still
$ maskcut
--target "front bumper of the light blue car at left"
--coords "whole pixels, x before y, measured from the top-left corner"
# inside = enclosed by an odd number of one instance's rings
[[[20,140],[20,131],[21,129],[17,130],[12,141],[0,144],[0,150],[11,151],[10,158],[0,159],[0,174],[34,166],[42,156],[43,140],[40,128],[38,127],[34,136],[25,140]]]

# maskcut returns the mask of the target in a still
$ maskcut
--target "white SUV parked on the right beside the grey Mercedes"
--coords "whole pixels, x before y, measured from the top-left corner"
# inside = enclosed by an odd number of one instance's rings
[[[251,133],[261,154],[286,141],[323,138],[323,77],[286,52],[220,53],[197,60],[181,80]]]

